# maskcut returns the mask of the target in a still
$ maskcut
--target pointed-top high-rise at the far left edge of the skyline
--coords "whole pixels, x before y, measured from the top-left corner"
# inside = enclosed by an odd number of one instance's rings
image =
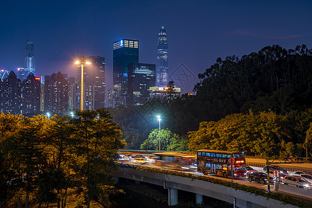
[[[1,82],[1,112],[21,114],[21,80],[11,71]]]

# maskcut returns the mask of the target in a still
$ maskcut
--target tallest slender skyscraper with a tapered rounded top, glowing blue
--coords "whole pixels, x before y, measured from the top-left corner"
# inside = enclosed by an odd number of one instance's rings
[[[168,40],[164,26],[160,28],[157,41],[156,86],[168,85]]]

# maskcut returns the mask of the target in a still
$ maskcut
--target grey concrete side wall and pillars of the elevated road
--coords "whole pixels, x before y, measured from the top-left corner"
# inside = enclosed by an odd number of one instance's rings
[[[284,204],[279,200],[258,196],[231,187],[225,187],[220,184],[214,184],[202,180],[192,180],[189,177],[180,177],[167,175],[164,173],[154,173],[148,171],[139,171],[135,168],[123,167],[119,171],[111,173],[116,181],[119,177],[139,182],[157,184],[168,189],[168,205],[177,205],[177,190],[196,193],[196,203],[202,203],[202,196],[209,196],[225,202],[234,204],[234,207],[296,207],[290,204]]]

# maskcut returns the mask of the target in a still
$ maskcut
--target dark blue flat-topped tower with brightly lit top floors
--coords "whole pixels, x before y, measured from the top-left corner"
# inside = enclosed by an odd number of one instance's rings
[[[113,43],[113,85],[121,86],[116,105],[126,105],[128,92],[128,64],[139,62],[139,41],[123,39]]]

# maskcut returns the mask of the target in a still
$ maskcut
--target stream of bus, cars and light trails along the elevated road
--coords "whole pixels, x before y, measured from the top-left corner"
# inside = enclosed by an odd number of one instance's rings
[[[188,155],[173,152],[146,154],[123,151],[119,152],[119,162],[218,177],[259,189],[268,189],[268,180],[270,180],[271,191],[275,190],[276,183],[306,190],[312,189],[310,171],[286,171],[277,165],[263,168],[248,166],[245,164],[243,153],[236,152],[198,150],[197,155]],[[310,194],[312,199],[312,191]]]

